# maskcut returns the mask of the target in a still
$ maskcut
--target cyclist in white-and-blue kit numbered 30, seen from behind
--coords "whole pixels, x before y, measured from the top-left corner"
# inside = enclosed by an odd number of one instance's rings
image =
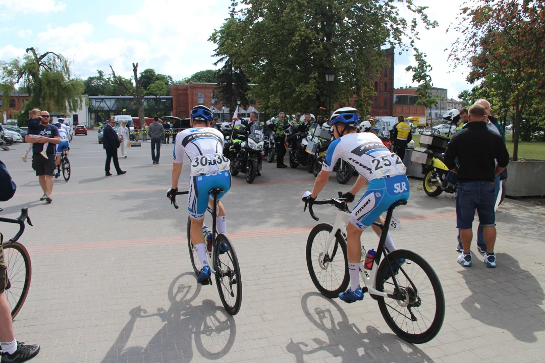
[[[213,204],[208,191],[213,188],[224,190],[217,196],[216,229],[219,233],[226,233],[225,208],[219,199],[231,188],[230,163],[229,159],[223,156],[223,134],[216,128],[210,127],[212,119],[213,114],[208,107],[195,106],[191,110],[189,121],[191,128],[180,131],[175,138],[172,188],[167,192],[168,199],[178,192],[178,181],[185,153],[190,159],[187,210],[191,218],[191,241],[203,266],[197,277],[197,281],[203,285],[210,281],[207,246],[203,235],[204,213],[207,206]]]

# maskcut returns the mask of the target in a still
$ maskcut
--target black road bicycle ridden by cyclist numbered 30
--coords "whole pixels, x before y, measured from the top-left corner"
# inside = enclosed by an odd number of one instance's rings
[[[217,292],[220,294],[221,303],[225,310],[236,315],[240,310],[242,303],[242,280],[240,278],[240,267],[237,259],[237,253],[229,238],[223,233],[218,233],[216,230],[216,215],[217,215],[217,195],[222,193],[224,189],[213,188],[209,190],[209,194],[214,196],[213,209],[207,207],[208,212],[212,215],[212,251],[207,254],[210,271],[215,275]],[[189,190],[177,192],[172,195],[171,204],[178,209],[176,204],[176,195],[188,194]],[[187,217],[187,246],[189,247],[189,256],[195,274],[198,276],[201,271],[201,263],[197,256],[197,250],[193,247],[191,241],[191,218]],[[210,263],[210,259],[214,263]],[[212,283],[211,279],[207,281]]]

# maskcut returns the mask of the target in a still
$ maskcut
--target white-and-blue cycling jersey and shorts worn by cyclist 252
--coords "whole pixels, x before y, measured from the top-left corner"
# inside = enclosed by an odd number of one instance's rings
[[[350,214],[350,223],[366,229],[394,202],[409,199],[407,168],[373,133],[349,133],[332,141],[322,170],[332,171],[338,159],[369,181],[367,190]]]

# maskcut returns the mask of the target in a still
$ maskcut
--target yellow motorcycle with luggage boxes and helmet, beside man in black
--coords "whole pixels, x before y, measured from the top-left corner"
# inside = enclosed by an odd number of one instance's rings
[[[457,109],[450,110],[443,119],[451,125],[457,125],[460,121],[460,112]],[[450,141],[450,130],[444,135],[434,132],[422,132],[420,146],[415,147],[411,156],[411,164],[421,164],[424,174],[424,192],[429,196],[438,196],[445,193],[456,193],[458,183],[449,180],[449,168],[443,162],[446,146]]]

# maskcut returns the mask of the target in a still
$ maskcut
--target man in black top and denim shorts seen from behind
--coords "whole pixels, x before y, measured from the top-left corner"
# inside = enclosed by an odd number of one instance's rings
[[[458,174],[456,224],[463,245],[458,263],[464,267],[471,267],[475,210],[479,213],[487,247],[484,262],[487,267],[496,267],[494,180],[507,167],[509,153],[502,137],[487,128],[486,120],[484,107],[480,104],[471,106],[468,125],[452,137],[444,155],[445,165]],[[459,166],[455,163],[456,157]]]

